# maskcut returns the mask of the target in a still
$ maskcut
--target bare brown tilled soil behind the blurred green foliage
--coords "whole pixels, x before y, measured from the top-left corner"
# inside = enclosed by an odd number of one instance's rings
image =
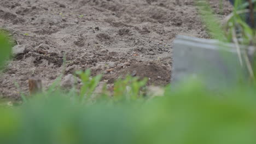
[[[220,13],[218,2],[211,1],[222,19],[231,5]],[[131,74],[164,86],[176,35],[209,38],[193,0],[1,0],[0,27],[26,47],[0,74],[0,95],[14,99],[28,92],[30,77],[48,87],[63,58],[65,75],[91,69],[108,83]]]

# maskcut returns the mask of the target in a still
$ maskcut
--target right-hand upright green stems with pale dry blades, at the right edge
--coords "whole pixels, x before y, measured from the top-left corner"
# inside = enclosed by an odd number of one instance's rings
[[[254,1],[255,2],[255,1]],[[249,2],[245,1],[235,1],[234,4],[234,11],[233,13],[228,17],[228,23],[226,25],[227,29],[227,37],[230,39],[230,41],[233,41],[236,45],[238,57],[240,60],[241,65],[246,65],[249,75],[252,80],[255,81],[255,73],[256,67],[253,67],[252,61],[249,61],[248,57],[248,47],[249,45],[252,45],[256,47],[256,33],[254,26],[250,27],[246,23],[248,21],[247,13],[252,13],[251,22],[254,23],[253,20],[253,13],[256,11],[256,7],[251,7],[251,10],[246,9],[249,6]],[[237,34],[238,31],[238,34]],[[241,51],[243,51],[240,47],[240,45],[246,45],[245,51],[243,54],[241,54]]]

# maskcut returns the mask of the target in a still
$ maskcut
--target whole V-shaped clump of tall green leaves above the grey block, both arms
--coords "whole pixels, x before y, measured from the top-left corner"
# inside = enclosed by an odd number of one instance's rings
[[[223,1],[220,0],[220,3],[222,2]],[[226,17],[226,25],[224,27],[220,25],[217,17],[213,15],[214,13],[207,0],[196,0],[196,3],[197,7],[199,7],[202,20],[205,23],[212,38],[224,41],[225,43],[234,43],[241,68],[243,68],[243,65],[246,65],[251,80],[255,81],[256,67],[254,67],[254,63],[252,63],[252,60],[250,61],[248,56],[248,47],[250,45],[254,46],[254,49],[256,49],[255,29],[248,26],[246,23],[246,13],[249,13],[249,10],[246,9],[246,7],[248,7],[249,3],[241,0],[235,1],[234,11],[232,14]],[[254,11],[255,9],[256,7],[254,8]],[[223,31],[224,29],[225,31]],[[241,45],[244,45],[245,49],[242,49]],[[256,55],[255,52],[254,55]]]

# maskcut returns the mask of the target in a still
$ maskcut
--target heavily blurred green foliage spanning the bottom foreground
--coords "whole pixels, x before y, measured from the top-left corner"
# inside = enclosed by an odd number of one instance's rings
[[[0,143],[256,143],[255,89],[212,93],[193,81],[163,97],[90,104],[39,94],[1,107]]]

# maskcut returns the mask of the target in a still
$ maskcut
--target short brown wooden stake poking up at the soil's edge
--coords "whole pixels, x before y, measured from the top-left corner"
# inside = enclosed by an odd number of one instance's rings
[[[42,80],[37,77],[28,79],[28,87],[30,89],[30,95],[40,93],[42,92]]]

